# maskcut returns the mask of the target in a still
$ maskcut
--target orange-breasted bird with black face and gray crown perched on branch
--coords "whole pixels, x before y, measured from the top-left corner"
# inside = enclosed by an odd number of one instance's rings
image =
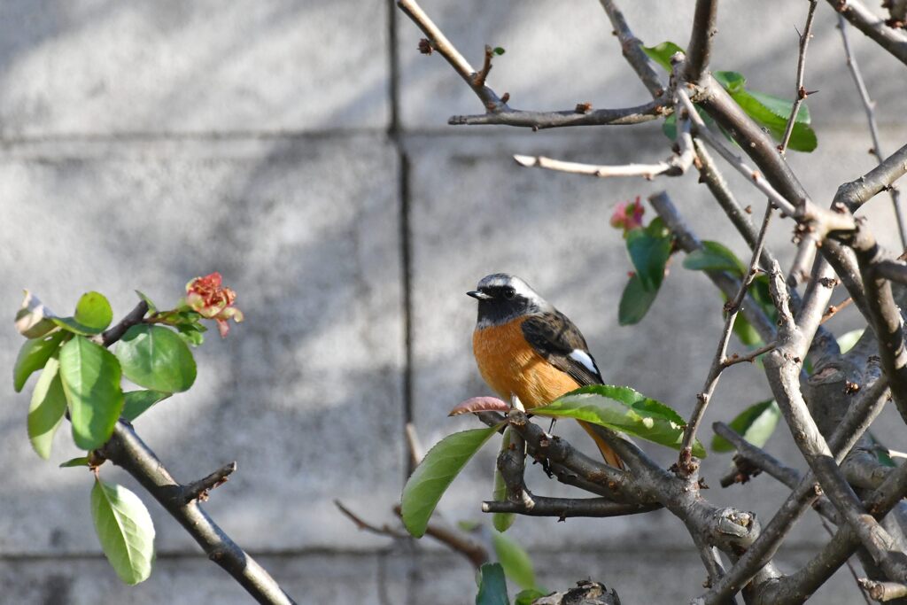
[[[473,331],[479,373],[514,407],[531,410],[580,386],[604,384],[580,329],[521,278],[493,273],[466,294],[479,301]],[[592,425],[578,422],[605,462],[623,469]]]

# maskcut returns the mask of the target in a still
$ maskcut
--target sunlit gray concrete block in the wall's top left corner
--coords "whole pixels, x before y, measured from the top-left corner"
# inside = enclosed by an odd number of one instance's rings
[[[379,2],[0,5],[0,134],[383,128]]]

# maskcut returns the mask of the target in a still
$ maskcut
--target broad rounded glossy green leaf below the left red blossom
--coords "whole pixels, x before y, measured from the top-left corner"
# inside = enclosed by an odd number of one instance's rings
[[[127,378],[153,391],[180,393],[195,382],[195,359],[189,346],[166,327],[129,328],[117,343],[116,356]]]

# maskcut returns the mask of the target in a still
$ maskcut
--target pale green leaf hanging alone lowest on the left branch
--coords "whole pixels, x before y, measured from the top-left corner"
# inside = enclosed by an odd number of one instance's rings
[[[127,584],[147,580],[154,559],[154,524],[139,496],[97,479],[92,518],[104,555],[120,579]]]

